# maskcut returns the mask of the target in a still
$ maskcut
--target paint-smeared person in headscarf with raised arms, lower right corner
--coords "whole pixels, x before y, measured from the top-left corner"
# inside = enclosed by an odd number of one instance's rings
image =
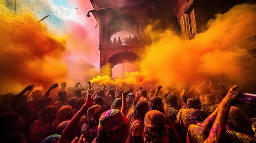
[[[218,109],[202,123],[204,130],[211,126],[209,136],[204,143],[256,142],[249,119],[238,108],[232,106],[240,95],[240,91],[236,91],[237,87],[235,85],[229,89]]]

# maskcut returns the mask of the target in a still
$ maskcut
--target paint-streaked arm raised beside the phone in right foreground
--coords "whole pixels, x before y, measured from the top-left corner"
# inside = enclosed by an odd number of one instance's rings
[[[233,86],[229,89],[227,95],[222,99],[218,108],[217,117],[213,123],[208,138],[204,143],[221,143],[225,142],[226,125],[229,115],[230,106],[238,98],[239,92],[235,91],[238,86]]]

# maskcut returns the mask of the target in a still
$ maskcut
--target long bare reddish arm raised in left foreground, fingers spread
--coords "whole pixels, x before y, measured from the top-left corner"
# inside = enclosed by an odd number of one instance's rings
[[[93,100],[91,99],[91,96],[90,96],[90,92],[91,91],[89,90],[85,104],[82,106],[82,108],[75,114],[75,116],[70,120],[70,122],[64,128],[61,134],[61,138],[58,140],[58,143],[69,143],[70,135],[72,134],[72,132],[70,131],[76,128],[76,125],[78,124],[79,120],[83,116],[83,113],[85,113],[89,107],[94,105]]]

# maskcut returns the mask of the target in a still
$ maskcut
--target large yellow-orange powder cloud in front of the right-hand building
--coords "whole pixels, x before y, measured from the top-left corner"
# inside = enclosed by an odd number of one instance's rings
[[[141,70],[160,83],[213,79],[248,86],[255,83],[255,61],[247,50],[256,47],[256,5],[241,4],[218,14],[209,29],[193,40],[182,40],[172,31],[153,32]],[[252,79],[254,77],[254,79]]]

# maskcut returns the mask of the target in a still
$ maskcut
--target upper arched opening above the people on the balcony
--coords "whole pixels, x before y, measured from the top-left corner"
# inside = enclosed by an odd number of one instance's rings
[[[132,15],[120,14],[113,17],[108,22],[108,43],[111,43],[111,36],[119,31],[127,31],[134,35],[139,35],[139,22]]]

